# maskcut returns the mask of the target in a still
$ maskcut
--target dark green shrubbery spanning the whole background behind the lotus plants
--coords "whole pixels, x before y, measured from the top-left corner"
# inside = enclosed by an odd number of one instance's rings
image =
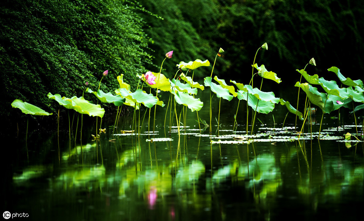
[[[346,77],[363,76],[364,7],[355,0],[5,0],[0,10],[2,117],[18,116],[14,99],[56,112],[48,92],[81,96],[86,81],[97,89],[106,69],[104,92],[118,88],[120,74],[135,88],[135,75],[158,72],[172,50],[167,77],[180,61],[212,64],[221,47],[214,74],[247,83],[265,42],[269,50],[256,63],[282,81],[296,81],[289,76],[312,57],[317,67],[309,73],[326,78],[336,66]]]

